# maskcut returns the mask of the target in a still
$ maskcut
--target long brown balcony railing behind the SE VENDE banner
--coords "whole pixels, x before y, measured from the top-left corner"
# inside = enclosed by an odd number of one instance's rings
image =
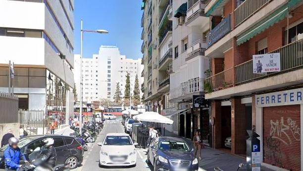
[[[251,59],[236,65],[233,68],[206,78],[204,83],[204,89],[206,89],[205,91],[208,93],[218,91],[225,87],[237,86],[265,77],[281,74],[287,70],[295,70],[303,67],[303,40],[293,42],[270,52],[270,54],[272,53],[280,53],[281,71],[268,72],[267,74],[253,73],[253,59]],[[235,77],[233,75],[235,75]]]

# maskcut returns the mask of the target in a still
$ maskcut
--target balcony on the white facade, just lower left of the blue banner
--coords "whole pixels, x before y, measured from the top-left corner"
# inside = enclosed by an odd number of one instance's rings
[[[193,43],[193,46],[187,49],[187,58],[185,61],[188,61],[197,56],[204,56],[204,52],[206,50],[206,41],[198,40]]]

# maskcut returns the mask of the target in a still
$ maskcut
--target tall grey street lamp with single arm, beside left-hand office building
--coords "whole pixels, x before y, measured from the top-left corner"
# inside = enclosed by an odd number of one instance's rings
[[[83,30],[83,20],[81,19],[81,57],[80,57],[80,114],[79,114],[79,129],[80,135],[82,134],[82,89],[83,89],[83,79],[82,79],[82,57],[83,57],[83,33],[84,32],[94,32],[107,34],[107,30]]]

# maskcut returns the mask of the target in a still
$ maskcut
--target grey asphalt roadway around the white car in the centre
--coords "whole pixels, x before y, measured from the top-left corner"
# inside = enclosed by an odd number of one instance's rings
[[[102,142],[107,133],[124,132],[124,127],[120,120],[106,120],[103,130],[101,131],[97,141],[93,143],[90,150],[84,154],[82,166],[75,169],[76,171],[151,171],[152,167],[146,163],[146,150],[137,149],[137,165],[136,167],[115,167],[100,168],[100,147],[98,142]]]

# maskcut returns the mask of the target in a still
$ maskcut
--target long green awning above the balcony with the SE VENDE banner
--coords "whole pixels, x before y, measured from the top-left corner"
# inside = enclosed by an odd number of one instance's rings
[[[290,7],[294,6],[299,0],[291,0],[287,4],[283,5],[281,8],[273,12],[272,14],[265,17],[258,24],[253,26],[248,31],[244,32],[240,36],[237,37],[237,45],[241,45],[246,41],[252,39],[255,35],[260,34],[262,31],[266,30],[270,26],[284,19]]]

